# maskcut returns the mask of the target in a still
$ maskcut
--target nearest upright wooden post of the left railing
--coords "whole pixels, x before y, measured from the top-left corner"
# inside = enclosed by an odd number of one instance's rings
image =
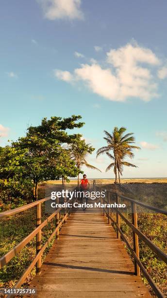
[[[36,227],[41,224],[41,203],[36,205]],[[41,230],[36,234],[36,254],[41,249]],[[41,274],[41,257],[36,262],[36,274]]]

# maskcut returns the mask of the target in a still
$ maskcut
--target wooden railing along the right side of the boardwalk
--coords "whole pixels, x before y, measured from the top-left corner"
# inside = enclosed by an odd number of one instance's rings
[[[93,185],[95,190],[104,190],[104,188],[102,188],[102,185],[100,183],[100,181],[98,180],[94,180],[93,181]],[[115,212],[116,212],[116,216],[117,216],[117,220],[115,221],[112,217],[111,217],[111,209],[110,208],[103,208],[103,212],[104,215],[108,218],[108,223],[111,224],[111,222],[116,226],[117,229],[117,239],[120,239],[120,235],[122,237],[122,239],[124,240],[124,242],[126,243],[127,247],[129,248],[133,258],[134,258],[134,272],[136,275],[140,275],[140,270],[143,273],[143,276],[148,280],[152,290],[154,291],[154,293],[156,294],[156,296],[158,298],[165,298],[165,296],[163,295],[163,293],[161,292],[161,290],[157,287],[157,285],[155,284],[154,280],[150,277],[150,274],[147,272],[147,270],[145,269],[145,267],[143,266],[142,262],[139,259],[139,242],[138,242],[138,238],[140,238],[143,242],[145,242],[145,244],[147,246],[150,247],[150,249],[156,254],[156,256],[158,258],[160,258],[162,261],[164,261],[165,263],[167,263],[167,254],[164,253],[159,247],[157,247],[153,242],[150,241],[150,239],[148,237],[146,237],[146,235],[144,235],[137,226],[137,210],[136,210],[136,206],[140,205],[146,209],[155,211],[157,213],[161,213],[164,215],[167,215],[167,211],[150,206],[150,205],[146,205],[142,202],[138,202],[134,199],[125,197],[123,195],[118,194],[117,192],[113,192],[113,191],[106,191],[106,195],[105,198],[100,197],[100,202],[102,204],[110,204],[111,202],[111,196],[115,195],[115,202],[117,204],[121,203],[121,199],[123,200],[127,200],[128,202],[130,202],[131,204],[131,209],[132,209],[132,223],[120,212],[120,210],[118,208],[114,208]],[[122,230],[120,229],[120,218],[132,229],[133,231],[133,247],[131,246],[131,244],[129,243],[127,237],[124,235],[124,233],[122,232]]]

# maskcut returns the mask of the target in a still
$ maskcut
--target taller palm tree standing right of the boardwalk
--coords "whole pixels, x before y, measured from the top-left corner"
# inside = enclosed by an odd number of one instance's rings
[[[124,135],[125,131],[126,128],[124,127],[121,127],[120,129],[115,127],[112,133],[104,130],[104,133],[106,135],[104,137],[104,140],[107,142],[107,146],[104,146],[97,151],[97,157],[100,154],[109,153],[109,151],[111,150],[113,151],[113,155],[111,155],[112,157],[109,157],[114,160],[114,163],[111,164],[110,168],[114,167],[114,173],[116,176],[115,183],[117,183],[117,173],[120,181],[119,174],[122,173],[122,162],[124,162],[123,158],[125,156],[129,156],[130,158],[134,157],[132,149],[140,149],[140,147],[133,145],[135,143],[133,133],[130,132]]]

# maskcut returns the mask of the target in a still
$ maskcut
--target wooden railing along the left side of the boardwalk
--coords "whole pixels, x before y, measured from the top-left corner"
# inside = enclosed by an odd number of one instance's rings
[[[29,243],[35,236],[36,236],[36,255],[29,267],[25,270],[25,272],[22,274],[20,279],[17,281],[13,289],[18,289],[25,279],[28,277],[30,272],[32,271],[33,267],[36,265],[36,274],[40,275],[41,274],[41,263],[42,263],[42,254],[44,250],[47,248],[48,244],[51,242],[54,236],[56,238],[59,237],[59,229],[61,225],[67,220],[67,216],[70,214],[70,208],[68,210],[65,209],[66,213],[63,214],[63,218],[59,220],[59,213],[61,210],[64,208],[58,208],[56,209],[46,220],[41,222],[41,205],[44,202],[47,202],[50,200],[50,197],[30,203],[28,205],[24,205],[12,210],[4,211],[0,213],[0,219],[6,218],[15,214],[18,214],[22,211],[28,210],[30,208],[33,208],[36,206],[36,228],[26,237],[24,238],[21,242],[19,242],[14,248],[12,248],[9,252],[7,252],[4,256],[0,258],[0,269],[6,265],[12,258],[14,258],[21,249],[23,249],[27,243]],[[65,199],[66,201],[66,199]],[[58,203],[58,200],[56,201]],[[41,244],[41,234],[42,234],[42,229],[44,226],[46,226],[54,217],[56,217],[56,226],[52,234],[50,235],[48,241],[42,246]],[[12,298],[15,295],[10,294],[7,297]]]

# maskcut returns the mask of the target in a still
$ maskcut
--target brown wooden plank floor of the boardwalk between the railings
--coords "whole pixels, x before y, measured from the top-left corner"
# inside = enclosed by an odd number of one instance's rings
[[[90,209],[68,218],[30,287],[36,298],[151,297],[114,229]]]

